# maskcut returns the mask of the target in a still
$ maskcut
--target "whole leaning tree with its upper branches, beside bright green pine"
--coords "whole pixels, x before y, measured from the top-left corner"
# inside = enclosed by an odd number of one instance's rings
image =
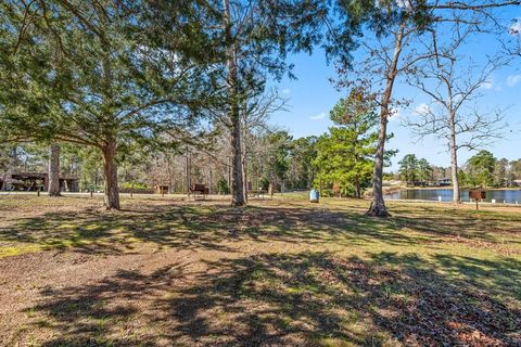
[[[387,123],[393,116],[397,100],[394,98],[394,87],[399,78],[406,77],[415,72],[417,64],[424,60],[432,60],[435,52],[429,49],[417,47],[419,39],[428,38],[430,28],[436,25],[461,25],[474,26],[478,30],[486,24],[494,25],[495,11],[510,5],[520,5],[521,1],[496,1],[496,0],[470,0],[457,1],[397,1],[394,10],[386,7],[379,7],[376,2],[378,20],[389,16],[397,18],[394,24],[389,24],[386,31],[377,35],[373,39],[366,39],[361,44],[366,54],[359,72],[364,77],[341,82],[345,85],[361,85],[367,90],[373,90],[376,100],[380,106],[380,130],[374,158],[374,174],[372,182],[372,201],[367,216],[387,217],[389,213],[383,198],[383,166],[384,147],[387,132]],[[484,18],[483,22],[475,22],[475,15]],[[393,22],[393,21],[391,21]],[[379,27],[378,23],[374,24]],[[353,65],[356,65],[353,64]],[[351,66],[348,66],[351,67]],[[342,66],[340,73],[350,72],[350,68]]]

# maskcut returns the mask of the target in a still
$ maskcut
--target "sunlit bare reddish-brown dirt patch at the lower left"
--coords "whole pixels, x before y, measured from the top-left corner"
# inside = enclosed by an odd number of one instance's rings
[[[202,271],[194,261],[194,252],[166,249],[157,252],[153,244],[136,244],[131,252],[117,256],[75,252],[40,252],[0,259],[0,344],[12,346],[26,340],[23,333],[34,307],[46,303],[46,293],[67,287],[88,287],[118,273],[148,275],[165,267],[185,267],[182,281],[190,281],[190,271]],[[206,255],[209,256],[209,255]],[[211,257],[211,256],[209,256]],[[111,290],[111,288],[109,288]],[[112,305],[118,305],[117,300]],[[5,319],[9,318],[9,319]],[[42,330],[43,331],[43,330]],[[39,340],[39,330],[31,338]],[[45,338],[43,338],[45,339]]]

